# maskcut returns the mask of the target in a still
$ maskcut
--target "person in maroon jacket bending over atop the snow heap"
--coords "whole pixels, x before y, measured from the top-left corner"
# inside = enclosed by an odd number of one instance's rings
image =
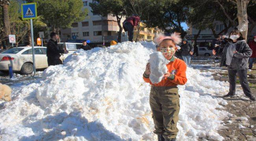
[[[128,31],[129,41],[132,42],[132,39],[134,38],[134,27],[136,27],[141,18],[139,16],[131,16],[124,20],[123,27],[124,31]]]

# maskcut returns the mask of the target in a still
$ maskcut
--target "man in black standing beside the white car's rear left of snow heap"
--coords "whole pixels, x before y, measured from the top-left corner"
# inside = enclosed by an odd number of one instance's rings
[[[64,49],[59,49],[58,47],[58,38],[59,35],[56,33],[50,33],[51,39],[47,43],[46,48],[46,56],[48,61],[48,66],[50,65],[60,65],[63,64],[62,61],[59,59],[61,54],[67,53]]]

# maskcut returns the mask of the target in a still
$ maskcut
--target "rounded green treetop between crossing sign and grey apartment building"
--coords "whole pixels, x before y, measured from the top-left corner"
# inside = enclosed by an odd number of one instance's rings
[[[82,0],[35,0],[37,12],[42,15],[44,22],[52,27],[52,31],[59,33],[60,28],[70,28],[74,22],[81,22],[88,14],[83,9]]]

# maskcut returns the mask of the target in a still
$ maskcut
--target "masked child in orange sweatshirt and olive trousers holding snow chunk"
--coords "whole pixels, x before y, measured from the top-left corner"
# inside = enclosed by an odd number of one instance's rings
[[[144,81],[151,85],[149,102],[155,124],[154,133],[158,135],[158,141],[176,141],[180,111],[180,96],[177,85],[185,85],[187,82],[186,63],[174,56],[177,50],[176,45],[181,42],[181,38],[176,34],[171,36],[158,35],[154,42],[158,45],[157,50],[162,52],[163,56],[170,61],[166,65],[168,72],[157,84],[151,83],[149,79],[149,63],[143,74]]]

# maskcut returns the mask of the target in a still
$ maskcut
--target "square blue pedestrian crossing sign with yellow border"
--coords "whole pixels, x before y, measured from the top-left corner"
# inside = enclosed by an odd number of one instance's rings
[[[37,18],[37,4],[27,3],[21,5],[21,14],[23,20],[35,19]]]

